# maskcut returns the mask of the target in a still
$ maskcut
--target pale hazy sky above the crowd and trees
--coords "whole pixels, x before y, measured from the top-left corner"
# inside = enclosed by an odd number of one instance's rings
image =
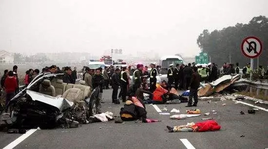
[[[0,50],[196,55],[204,30],[255,16],[268,0],[0,0]]]

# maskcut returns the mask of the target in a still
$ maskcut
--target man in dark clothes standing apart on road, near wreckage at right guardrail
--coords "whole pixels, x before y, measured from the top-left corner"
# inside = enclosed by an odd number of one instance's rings
[[[196,107],[198,102],[197,90],[200,85],[200,75],[197,73],[197,67],[193,67],[192,70],[193,73],[191,74],[190,95],[188,105],[186,107],[192,107],[192,106]],[[194,99],[193,105],[191,105],[192,97]]]

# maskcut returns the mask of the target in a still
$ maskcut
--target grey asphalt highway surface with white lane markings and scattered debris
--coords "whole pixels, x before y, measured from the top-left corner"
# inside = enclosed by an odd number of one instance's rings
[[[102,112],[113,112],[119,115],[123,104],[112,104],[112,89],[104,90]],[[217,104],[215,104],[217,102]],[[268,109],[267,105],[254,104],[251,101],[243,101]],[[226,106],[222,104],[226,103]],[[167,108],[170,112],[173,108],[186,113],[189,109],[187,103],[174,105],[157,105],[160,110]],[[66,148],[87,148],[87,149],[265,149],[268,148],[268,112],[259,110],[255,114],[248,114],[252,107],[235,103],[232,100],[199,101],[198,109],[202,115],[190,117],[184,120],[170,120],[171,115],[160,115],[154,107],[146,105],[147,117],[161,122],[115,124],[114,121],[99,122],[82,125],[78,128],[52,130],[36,130],[25,140],[20,142],[17,149],[66,149]],[[217,113],[211,112],[215,110]],[[241,115],[240,112],[245,112]],[[204,113],[210,112],[209,116]],[[190,122],[202,121],[201,118],[212,117],[221,130],[210,132],[168,132],[166,126],[186,125]],[[103,128],[99,127],[112,127]],[[245,137],[240,137],[244,135]],[[21,134],[7,134],[0,132],[0,148],[16,140]],[[187,140],[181,140],[187,139]],[[186,142],[185,142],[186,141]]]

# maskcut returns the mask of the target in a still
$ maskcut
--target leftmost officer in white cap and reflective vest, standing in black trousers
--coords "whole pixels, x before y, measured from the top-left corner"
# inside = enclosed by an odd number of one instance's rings
[[[122,67],[121,75],[120,75],[120,87],[122,93],[122,102],[126,102],[127,98],[127,86],[129,84],[128,75],[126,73],[127,67]]]

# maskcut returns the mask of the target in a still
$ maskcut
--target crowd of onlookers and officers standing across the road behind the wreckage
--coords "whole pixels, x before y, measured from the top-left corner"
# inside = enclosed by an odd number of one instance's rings
[[[150,64],[151,71],[148,71],[148,66],[138,64],[136,69],[129,67],[105,67],[91,69],[84,66],[82,69],[83,80],[86,86],[91,88],[100,88],[101,99],[103,90],[109,89],[109,84],[113,89],[112,102],[120,104],[119,99],[122,102],[126,101],[126,96],[138,96],[140,100],[143,99],[143,93],[150,94],[150,98],[153,99],[153,92],[156,89],[156,75],[160,74],[160,67],[156,66],[156,63]],[[5,91],[6,103],[12,99],[12,97],[19,92],[19,78],[17,74],[18,66],[14,66],[12,71],[4,70],[4,75],[1,78],[1,88]],[[249,76],[252,72],[250,64],[247,64],[243,68],[242,73],[245,76]],[[259,75],[264,77],[267,75],[262,66],[258,69]],[[38,69],[29,69],[25,72],[23,83],[27,86],[40,71]],[[44,67],[41,73],[52,73],[52,74],[64,74],[63,82],[75,84],[77,80],[77,68],[74,67],[72,71],[71,67],[62,67],[60,70],[56,65],[50,67]],[[215,63],[209,63],[208,65],[199,65],[196,63],[189,63],[188,65],[176,64],[173,68],[173,64],[168,68],[168,82],[162,81],[161,86],[168,91],[173,87],[175,90],[189,90],[190,89],[190,101],[188,106],[191,106],[191,98],[197,98],[197,89],[199,82],[212,82],[222,75],[240,74],[239,64],[224,63],[221,68]],[[132,79],[131,79],[132,76]],[[147,83],[147,79],[150,78],[150,84]],[[16,83],[14,83],[16,80]],[[132,80],[132,81],[131,81]],[[118,89],[120,88],[119,95]],[[197,100],[197,99],[195,99]],[[194,103],[193,106],[196,106]]]

